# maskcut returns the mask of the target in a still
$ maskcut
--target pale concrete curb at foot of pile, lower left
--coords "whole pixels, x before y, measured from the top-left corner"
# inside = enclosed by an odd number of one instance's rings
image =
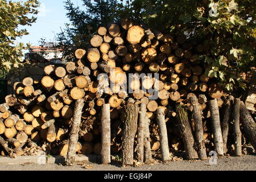
[[[21,165],[21,164],[59,164],[64,163],[66,156],[51,156],[46,158],[45,155],[18,156],[17,158],[0,157],[0,165]],[[98,160],[97,155],[77,155],[75,162],[95,162]]]

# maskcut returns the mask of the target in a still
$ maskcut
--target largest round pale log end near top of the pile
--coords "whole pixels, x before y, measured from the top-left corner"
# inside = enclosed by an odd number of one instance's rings
[[[141,26],[131,26],[127,31],[126,40],[131,44],[138,44],[141,42],[144,35],[145,30]]]

